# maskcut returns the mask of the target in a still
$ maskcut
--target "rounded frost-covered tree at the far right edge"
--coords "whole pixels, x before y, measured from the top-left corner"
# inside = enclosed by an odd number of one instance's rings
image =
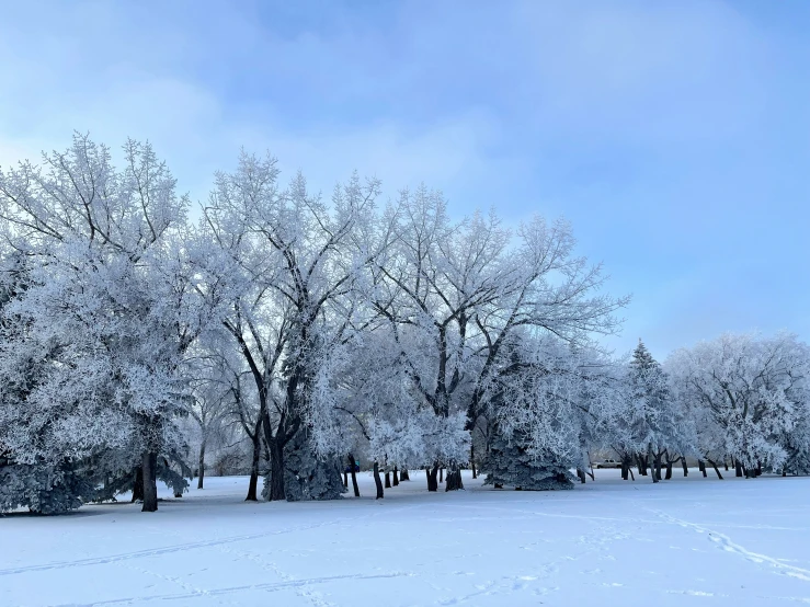
[[[803,460],[809,365],[807,345],[789,333],[726,333],[668,360],[703,453],[731,456],[745,477]]]

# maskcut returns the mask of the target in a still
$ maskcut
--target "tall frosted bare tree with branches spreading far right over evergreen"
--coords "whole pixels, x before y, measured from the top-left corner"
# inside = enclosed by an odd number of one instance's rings
[[[421,187],[402,193],[391,225],[397,238],[379,266],[376,308],[392,325],[414,392],[446,427],[444,453],[430,454],[433,477],[443,461],[447,490],[460,489],[469,432],[491,404],[490,382],[510,366],[512,335],[531,328],[574,343],[609,333],[625,300],[597,294],[601,268],[573,256],[563,221],[534,218],[515,238],[494,214],[450,220],[442,195]]]

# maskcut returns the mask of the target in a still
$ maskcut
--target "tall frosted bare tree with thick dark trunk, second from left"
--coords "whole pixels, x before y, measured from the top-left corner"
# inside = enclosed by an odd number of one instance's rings
[[[288,445],[311,451],[300,462],[333,468],[326,460],[339,449],[334,402],[316,385],[331,383],[330,356],[362,313],[355,289],[376,254],[369,224],[377,193],[376,182],[355,176],[328,205],[300,174],[283,187],[274,159],[242,154],[233,173],[217,175],[205,208],[224,267],[243,277],[224,328],[255,383],[270,500],[295,499],[285,489]],[[321,478],[315,469],[296,474]]]

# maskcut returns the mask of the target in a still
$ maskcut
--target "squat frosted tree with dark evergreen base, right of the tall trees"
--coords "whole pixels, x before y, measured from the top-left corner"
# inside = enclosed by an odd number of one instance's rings
[[[511,365],[487,394],[495,405],[487,483],[570,489],[570,469],[584,482],[589,453],[604,445],[620,402],[617,366],[592,344],[516,333]]]

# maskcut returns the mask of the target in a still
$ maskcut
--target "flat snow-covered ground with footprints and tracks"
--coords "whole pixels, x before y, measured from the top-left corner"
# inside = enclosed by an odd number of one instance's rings
[[[298,504],[210,478],[155,514],[0,517],[0,606],[810,604],[810,479],[596,473],[430,494],[414,472],[385,501]]]

